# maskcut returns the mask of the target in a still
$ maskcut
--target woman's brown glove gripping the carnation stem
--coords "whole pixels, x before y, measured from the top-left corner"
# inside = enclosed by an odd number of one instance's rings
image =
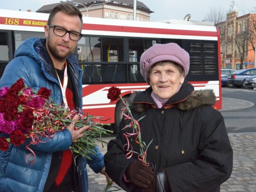
[[[144,166],[139,160],[134,160],[126,170],[128,179],[138,187],[148,188],[156,181],[156,174],[151,166]]]

